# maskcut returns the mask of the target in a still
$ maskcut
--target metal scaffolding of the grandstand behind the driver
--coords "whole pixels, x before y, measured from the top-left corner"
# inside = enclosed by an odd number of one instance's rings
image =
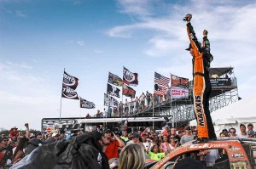
[[[209,109],[212,113],[236,102],[239,96],[233,67],[210,68],[209,74],[212,84]],[[165,116],[173,127],[186,126],[195,119],[192,89],[193,82],[189,82],[189,98],[166,100],[154,108],[140,111],[136,116]]]

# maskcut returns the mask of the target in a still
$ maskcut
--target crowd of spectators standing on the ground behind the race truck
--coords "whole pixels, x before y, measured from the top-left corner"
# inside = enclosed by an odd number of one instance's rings
[[[178,146],[197,138],[196,127],[187,126],[183,130],[177,131],[177,128],[170,128],[166,125],[159,132],[148,127],[143,131],[128,133],[127,131],[113,132],[108,128],[102,128],[101,125],[95,131],[101,133],[102,138],[99,137],[99,143],[102,146],[102,153],[107,156],[111,168],[117,168],[118,164],[121,165],[121,168],[133,168],[131,165],[137,165],[134,166],[136,168],[143,168],[145,163],[138,163],[137,159],[131,158],[131,162],[124,161],[124,159],[134,154],[142,159],[160,161],[161,158],[177,149]],[[13,127],[8,136],[2,135],[0,139],[0,168],[12,166],[26,155],[29,155],[40,144],[50,144],[64,139],[68,141],[83,133],[84,131],[79,129],[76,132],[67,134],[67,132],[61,131],[60,128],[57,128],[53,133],[30,133],[28,124],[26,124],[26,133],[22,133],[18,132],[16,127]],[[253,138],[255,137],[253,124],[249,123],[247,126],[241,124],[239,132],[236,132],[233,127],[230,127],[229,130],[224,129],[220,132],[219,137]],[[139,145],[139,148],[142,149],[143,157],[140,156],[137,145],[132,144]]]

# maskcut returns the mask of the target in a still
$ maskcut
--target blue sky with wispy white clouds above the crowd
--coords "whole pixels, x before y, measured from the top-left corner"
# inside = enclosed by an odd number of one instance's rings
[[[255,1],[0,0],[0,127],[59,117],[64,68],[96,109],[62,99],[62,117],[103,110],[108,71],[123,66],[138,73],[138,94],[153,92],[154,71],[191,80],[188,13],[199,39],[209,31],[212,67],[233,66],[241,98],[255,93]]]

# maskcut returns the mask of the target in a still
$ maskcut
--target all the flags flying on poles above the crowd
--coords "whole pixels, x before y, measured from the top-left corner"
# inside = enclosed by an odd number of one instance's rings
[[[95,104],[86,99],[79,97],[75,91],[79,85],[79,78],[70,76],[64,70],[62,81],[61,97],[66,99],[79,99],[80,108],[94,109]],[[104,105],[106,106],[118,106],[119,101],[115,98],[120,98],[120,91],[122,95],[126,97],[135,98],[136,90],[130,86],[137,87],[138,74],[131,72],[124,67],[123,79],[111,72],[108,72],[108,84],[107,93],[104,93]],[[122,87],[122,89],[119,89]],[[189,97],[189,79],[175,75],[171,75],[171,78],[162,76],[157,72],[154,72],[154,94],[164,96],[170,95],[172,99],[182,99]]]

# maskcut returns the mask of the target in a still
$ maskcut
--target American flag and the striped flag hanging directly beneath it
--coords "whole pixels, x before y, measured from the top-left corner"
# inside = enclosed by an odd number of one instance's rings
[[[161,76],[159,73],[154,72],[154,93],[161,96],[166,95],[169,82],[170,78]]]

